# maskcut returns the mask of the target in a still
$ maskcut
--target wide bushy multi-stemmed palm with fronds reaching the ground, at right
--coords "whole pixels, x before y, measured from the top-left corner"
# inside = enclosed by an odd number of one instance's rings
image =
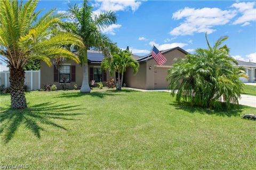
[[[168,88],[173,90],[173,95],[178,89],[178,102],[185,100],[191,105],[221,108],[222,104],[228,107],[238,104],[244,86],[239,77],[246,77],[244,69],[229,55],[229,48],[221,46],[228,37],[221,37],[213,47],[206,34],[205,37],[208,49],[196,49],[194,54],[188,54],[169,69]]]

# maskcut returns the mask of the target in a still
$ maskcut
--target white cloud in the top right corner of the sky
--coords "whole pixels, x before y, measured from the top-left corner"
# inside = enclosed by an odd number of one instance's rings
[[[244,27],[245,25],[249,25],[250,21],[256,20],[256,8],[253,8],[255,5],[255,2],[241,2],[241,3],[235,3],[231,5],[231,7],[234,7],[238,10],[238,12],[242,13],[242,16],[240,16],[238,19],[236,19],[233,24],[242,24]]]

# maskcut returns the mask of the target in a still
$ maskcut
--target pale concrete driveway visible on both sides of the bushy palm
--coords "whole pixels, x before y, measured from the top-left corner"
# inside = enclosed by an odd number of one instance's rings
[[[144,90],[144,89],[135,89],[135,88],[128,88],[126,87],[125,89],[130,89],[130,90],[137,90],[137,91],[163,91],[163,92],[171,92],[171,90]],[[250,95],[241,95],[241,99],[239,99],[239,104],[240,105],[245,105],[245,106],[250,106],[250,107],[256,107],[256,96],[250,96]]]

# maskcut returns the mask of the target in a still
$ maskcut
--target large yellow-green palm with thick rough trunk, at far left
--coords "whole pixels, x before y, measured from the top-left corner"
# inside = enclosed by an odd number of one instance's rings
[[[79,62],[78,57],[62,48],[66,44],[83,47],[82,41],[72,33],[60,32],[60,15],[54,10],[41,18],[35,12],[38,1],[26,3],[0,1],[0,57],[10,68],[12,108],[27,107],[23,85],[24,66],[31,60],[42,60],[51,65],[51,58],[66,57]]]

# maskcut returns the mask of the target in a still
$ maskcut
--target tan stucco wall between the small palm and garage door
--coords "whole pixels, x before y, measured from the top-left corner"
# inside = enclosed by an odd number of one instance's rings
[[[133,74],[133,70],[128,68],[124,74],[124,83],[126,87],[146,89],[146,68],[147,64],[140,64],[137,74]]]

